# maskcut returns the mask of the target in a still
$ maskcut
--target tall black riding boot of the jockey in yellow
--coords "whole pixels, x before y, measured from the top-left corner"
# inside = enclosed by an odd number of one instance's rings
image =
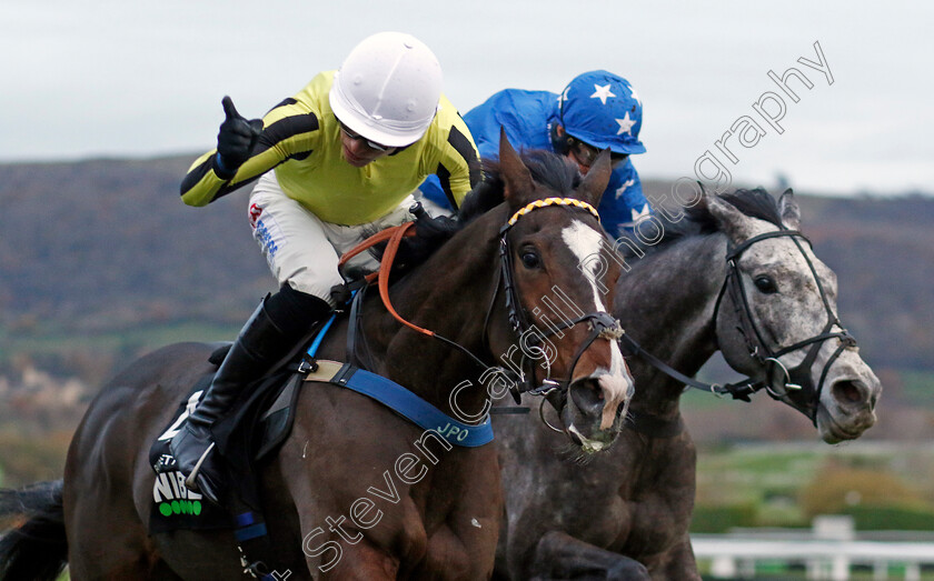
[[[250,317],[217,370],[207,393],[169,444],[186,485],[218,502],[222,471],[211,428],[227,415],[245,385],[262,377],[330,312],[327,302],[289,286],[267,297]]]

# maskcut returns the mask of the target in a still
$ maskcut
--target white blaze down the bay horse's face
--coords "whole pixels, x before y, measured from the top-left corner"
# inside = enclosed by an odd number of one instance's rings
[[[599,256],[605,251],[604,243],[606,237],[603,232],[598,232],[594,228],[585,224],[580,220],[574,220],[570,226],[562,230],[562,240],[568,246],[572,253],[577,257],[578,269],[587,278],[593,289],[593,305],[580,305],[584,311],[606,312],[607,308],[600,298],[600,291],[597,284],[597,264],[594,260],[595,256]],[[600,417],[600,430],[607,430],[613,427],[616,420],[616,412],[620,404],[628,405],[629,399],[633,395],[633,378],[629,375],[629,370],[623,360],[623,353],[619,351],[619,345],[616,341],[597,341],[590,349],[609,349],[609,362],[607,367],[598,367],[590,372],[587,378],[597,382],[600,388],[603,397],[603,412]],[[575,377],[575,380],[587,379]],[[578,437],[580,432],[575,427],[568,427],[569,430],[575,431]],[[586,440],[585,440],[586,443]]]

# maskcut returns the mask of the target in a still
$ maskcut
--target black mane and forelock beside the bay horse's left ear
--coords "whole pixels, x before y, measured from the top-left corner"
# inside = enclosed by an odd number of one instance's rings
[[[531,173],[531,179],[557,193],[569,194],[580,186],[580,173],[563,156],[541,149],[524,150],[523,163]],[[461,223],[467,223],[486,213],[504,200],[504,182],[499,162],[484,159],[484,181],[464,198],[458,216]]]

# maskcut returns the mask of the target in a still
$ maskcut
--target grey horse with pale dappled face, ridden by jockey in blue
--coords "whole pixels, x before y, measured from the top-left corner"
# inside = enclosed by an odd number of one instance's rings
[[[858,438],[882,385],[843,332],[836,277],[798,233],[791,190],[778,203],[762,190],[705,194],[685,212],[677,224],[658,217],[665,232],[654,246],[620,246],[627,270],[614,313],[626,335],[687,377],[719,350],[751,378],[738,397],[766,390],[827,443]],[[696,452],[678,405],[685,378],[644,357],[627,361],[638,384],[632,421],[586,465],[567,460],[535,415],[495,417],[507,508],[497,579],[700,579],[688,537]]]

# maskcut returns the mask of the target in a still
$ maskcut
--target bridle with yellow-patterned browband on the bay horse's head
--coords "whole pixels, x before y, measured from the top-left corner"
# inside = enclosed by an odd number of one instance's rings
[[[577,352],[574,354],[566,379],[552,379],[549,377],[550,365],[546,364],[546,378],[541,380],[541,384],[537,387],[535,385],[534,368],[536,365],[536,362],[538,361],[538,358],[527,357],[528,353],[526,353],[525,350],[521,350],[521,363],[518,370],[513,369],[513,371],[516,372],[517,377],[514,378],[515,381],[513,382],[510,388],[510,392],[513,393],[513,398],[516,400],[516,403],[519,403],[519,395],[524,392],[528,392],[534,395],[549,395],[553,393],[558,393],[560,397],[566,397],[567,390],[572,383],[572,378],[574,375],[574,369],[577,367],[577,362],[580,360],[580,357],[584,354],[584,351],[586,351],[590,347],[590,344],[593,344],[593,342],[597,339],[606,339],[608,341],[614,341],[619,339],[619,337],[623,334],[623,331],[619,327],[619,321],[614,319],[613,315],[606,311],[584,313],[575,319],[565,319],[558,323],[549,322],[549,324],[547,324],[547,330],[540,330],[538,327],[534,327],[529,322],[528,313],[519,302],[518,291],[516,289],[516,283],[514,280],[515,274],[508,234],[511,228],[516,224],[516,222],[518,222],[520,217],[538,208],[546,208],[549,206],[565,206],[579,208],[590,212],[597,219],[597,221],[599,221],[599,214],[597,214],[597,210],[593,206],[590,206],[587,202],[576,200],[574,198],[546,198],[544,200],[536,200],[515,212],[513,217],[506,222],[506,224],[504,224],[503,228],[500,228],[499,230],[499,279],[501,284],[497,283],[496,290],[494,291],[493,300],[490,301],[490,308],[487,311],[486,321],[484,322],[484,334],[486,335],[486,329],[489,323],[489,318],[496,303],[496,297],[499,292],[500,287],[505,291],[506,312],[509,320],[509,324],[513,328],[513,332],[516,333],[520,338],[520,340],[528,333],[533,342],[527,347],[530,350],[537,350],[538,352],[535,354],[539,354],[543,358],[545,358],[546,362],[547,353],[541,348],[541,343],[549,337],[557,334],[560,331],[569,329],[582,322],[588,323],[590,334],[585,341],[580,343],[580,347],[578,347]]]

